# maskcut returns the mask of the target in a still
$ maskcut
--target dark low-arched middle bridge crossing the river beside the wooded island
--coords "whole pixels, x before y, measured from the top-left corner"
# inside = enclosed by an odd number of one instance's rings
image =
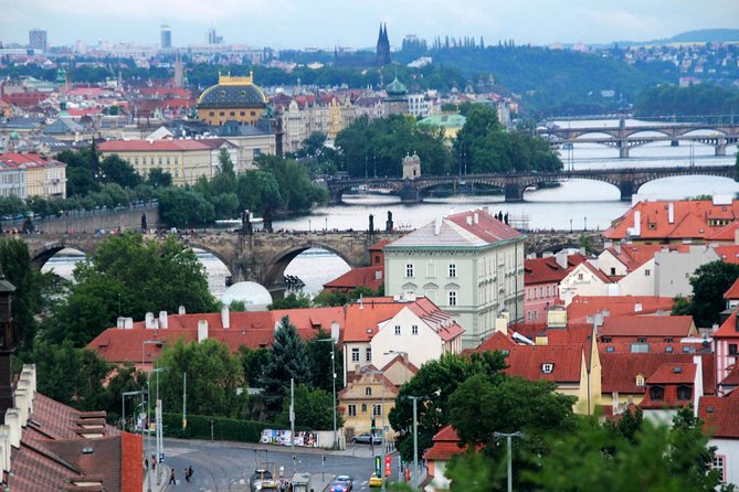
[[[682,175],[711,175],[733,178],[733,165],[684,165],[672,168],[631,168],[631,169],[587,169],[581,171],[527,172],[527,173],[490,173],[421,177],[414,180],[400,178],[374,178],[365,180],[336,180],[327,183],[328,191],[335,203],[341,203],[341,195],[362,184],[369,188],[390,190],[403,202],[420,202],[429,191],[441,186],[460,184],[482,184],[498,188],[505,192],[506,202],[521,202],[524,191],[538,183],[556,182],[571,179],[595,180],[613,184],[621,191],[621,200],[631,200],[644,183],[663,178]]]

